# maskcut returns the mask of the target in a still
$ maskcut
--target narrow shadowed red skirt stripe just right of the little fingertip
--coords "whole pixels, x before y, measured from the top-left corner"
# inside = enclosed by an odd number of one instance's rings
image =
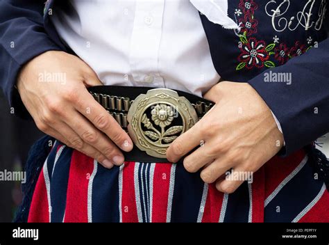
[[[252,217],[251,222],[260,223],[264,222],[264,200],[265,200],[265,169],[260,168],[253,174],[253,183],[251,184],[252,196]]]

